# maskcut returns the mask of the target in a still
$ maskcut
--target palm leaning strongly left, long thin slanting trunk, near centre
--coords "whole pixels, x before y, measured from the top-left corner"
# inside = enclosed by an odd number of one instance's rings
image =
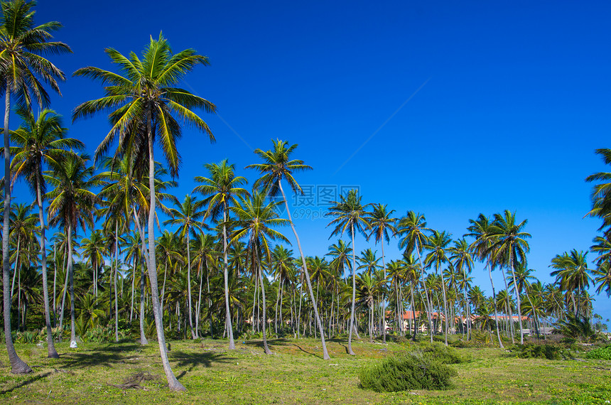
[[[299,254],[301,255],[301,264],[305,272],[305,281],[308,284],[310,298],[312,302],[315,303],[314,292],[310,283],[310,274],[308,273],[308,265],[305,263],[305,256],[303,255],[303,249],[301,249],[301,241],[299,240],[299,235],[293,224],[293,217],[291,217],[291,210],[288,207],[288,200],[286,200],[286,195],[282,188],[282,180],[284,179],[291,187],[291,190],[293,190],[293,193],[303,193],[301,187],[298,185],[295,178],[293,178],[293,172],[311,170],[312,168],[306,165],[301,159],[291,160],[291,153],[297,148],[297,144],[288,146],[288,142],[281,141],[280,139],[276,141],[272,139],[272,143],[274,144],[274,148],[269,151],[262,151],[261,149],[256,149],[256,151],[254,151],[264,163],[252,164],[247,166],[247,168],[254,168],[261,173],[261,177],[254,182],[253,188],[262,188],[271,197],[276,197],[279,193],[282,195],[286,214],[288,215],[288,223],[291,224],[291,229],[293,229],[293,234],[295,234],[295,239],[297,241]],[[323,330],[323,323],[320,321],[320,316],[318,315],[318,309],[316,307],[317,305],[314,305],[314,318],[320,330],[320,341],[323,345],[323,359],[329,360],[331,357],[329,357],[329,353],[327,352],[325,331]]]

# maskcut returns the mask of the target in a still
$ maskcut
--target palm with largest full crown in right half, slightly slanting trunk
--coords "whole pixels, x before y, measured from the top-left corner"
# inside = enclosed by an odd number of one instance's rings
[[[505,210],[503,215],[494,214],[492,224],[492,237],[494,242],[490,247],[490,252],[494,252],[495,260],[506,266],[512,272],[514,284],[517,284],[515,265],[519,262],[526,266],[526,253],[529,252],[529,243],[526,239],[531,234],[524,232],[524,227],[528,220],[516,222],[515,212]],[[522,328],[522,313],[520,297],[516,290],[516,303],[518,306],[518,321],[520,326],[520,344],[524,344],[524,329]]]

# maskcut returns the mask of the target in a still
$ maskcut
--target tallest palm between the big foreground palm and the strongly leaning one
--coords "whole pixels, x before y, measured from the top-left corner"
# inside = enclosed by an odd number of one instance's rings
[[[202,183],[193,192],[205,196],[203,204],[207,205],[206,217],[217,220],[222,212],[223,218],[223,279],[225,281],[225,319],[227,320],[227,336],[229,337],[229,350],[235,349],[233,339],[233,326],[231,311],[229,310],[229,274],[227,269],[227,220],[229,207],[237,203],[237,198],[248,195],[242,185],[247,184],[246,178],[234,174],[235,165],[227,163],[227,159],[220,164],[208,163],[204,165],[210,172],[210,178],[196,176],[195,181]]]

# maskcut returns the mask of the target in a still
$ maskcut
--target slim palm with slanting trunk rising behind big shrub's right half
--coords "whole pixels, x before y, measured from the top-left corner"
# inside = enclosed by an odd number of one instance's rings
[[[408,255],[411,255],[413,251],[416,250],[418,254],[418,263],[422,271],[424,271],[424,266],[422,265],[421,249],[428,241],[428,236],[426,236],[425,232],[431,232],[431,229],[426,227],[426,219],[420,212],[408,211],[405,217],[399,219],[399,223],[396,227],[396,234],[400,235],[399,249],[405,249],[405,253]],[[431,343],[433,343],[433,303],[430,301],[428,291],[426,291],[424,275],[421,277],[421,281],[424,288],[424,295],[426,296],[428,330]]]

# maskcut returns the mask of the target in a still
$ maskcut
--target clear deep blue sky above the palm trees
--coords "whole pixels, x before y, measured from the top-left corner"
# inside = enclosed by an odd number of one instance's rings
[[[223,158],[252,183],[254,171],[242,170],[257,163],[252,149],[286,139],[314,168],[298,176],[302,185],[358,185],[364,202],[388,204],[396,215],[423,212],[428,226],[454,237],[480,212],[515,211],[529,220],[529,267],[549,282],[551,258],[588,249],[597,234],[598,221],[583,218],[591,188],[584,178],[607,170],[594,151],[609,146],[611,129],[610,8],[108,0],[40,1],[36,16],[63,23],[56,38],[74,54],[51,59],[68,76],[86,65],[112,70],[104,48],[141,53],[160,31],[174,50],[210,58],[184,86],[217,104],[216,116],[202,114],[217,142],[184,131],[179,198],[193,190],[194,175],[205,175],[202,164]],[[94,151],[106,117],[68,117],[102,96],[99,83],[69,77],[61,89],[52,107]],[[29,198],[23,188],[16,196]],[[329,220],[312,215],[326,207],[293,208],[304,216],[296,225],[306,254],[325,254],[336,240],[328,240]],[[365,247],[357,239],[357,250]],[[396,241],[386,254],[399,257]],[[473,275],[490,293],[482,266]],[[595,302],[604,318],[608,303]]]

